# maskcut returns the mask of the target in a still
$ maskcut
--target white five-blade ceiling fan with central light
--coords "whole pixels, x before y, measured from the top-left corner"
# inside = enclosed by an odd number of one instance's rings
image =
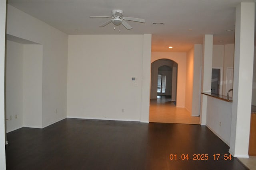
[[[124,25],[126,29],[132,29],[131,25],[129,25],[125,20],[127,21],[136,21],[136,22],[141,22],[145,23],[144,19],[140,18],[132,18],[132,17],[122,17],[123,16],[123,11],[122,10],[112,10],[112,17],[110,16],[90,16],[90,18],[112,18],[111,20],[106,21],[100,27],[104,27],[108,25],[110,22],[114,23],[114,25]]]

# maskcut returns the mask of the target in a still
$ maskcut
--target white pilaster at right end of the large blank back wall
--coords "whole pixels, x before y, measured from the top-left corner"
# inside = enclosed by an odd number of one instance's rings
[[[142,57],[142,92],[140,122],[149,122],[150,104],[150,69],[151,69],[151,34],[143,35]]]

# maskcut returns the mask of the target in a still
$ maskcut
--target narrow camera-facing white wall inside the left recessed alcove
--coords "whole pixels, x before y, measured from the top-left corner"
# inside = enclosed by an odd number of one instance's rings
[[[42,45],[24,45],[23,126],[42,128]]]

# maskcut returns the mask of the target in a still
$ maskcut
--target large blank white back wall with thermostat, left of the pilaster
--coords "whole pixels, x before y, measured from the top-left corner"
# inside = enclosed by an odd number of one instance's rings
[[[143,38],[68,36],[68,117],[140,121]]]

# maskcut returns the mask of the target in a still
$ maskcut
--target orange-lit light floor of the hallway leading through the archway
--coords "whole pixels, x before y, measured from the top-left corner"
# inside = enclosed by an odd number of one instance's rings
[[[191,116],[185,108],[177,108],[168,96],[150,100],[149,121],[158,123],[199,124],[200,117]]]

